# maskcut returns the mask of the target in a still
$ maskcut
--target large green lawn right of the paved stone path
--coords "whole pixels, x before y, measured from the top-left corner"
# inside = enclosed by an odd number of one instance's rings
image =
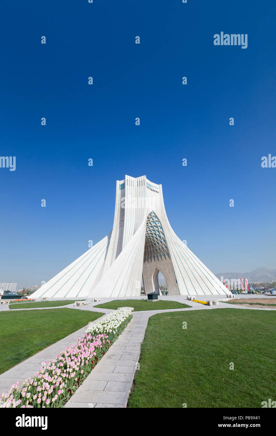
[[[275,323],[276,312],[234,308],[153,315],[128,406],[260,408],[276,400]]]

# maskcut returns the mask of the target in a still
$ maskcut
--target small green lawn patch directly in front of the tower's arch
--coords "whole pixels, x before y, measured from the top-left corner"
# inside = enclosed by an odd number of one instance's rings
[[[158,310],[158,309],[184,309],[191,307],[187,304],[177,303],[177,301],[164,301],[158,300],[156,302],[148,303],[147,300],[114,300],[109,303],[98,304],[94,307],[101,307],[102,309],[118,309],[119,307],[133,307],[134,312],[139,310]]]

